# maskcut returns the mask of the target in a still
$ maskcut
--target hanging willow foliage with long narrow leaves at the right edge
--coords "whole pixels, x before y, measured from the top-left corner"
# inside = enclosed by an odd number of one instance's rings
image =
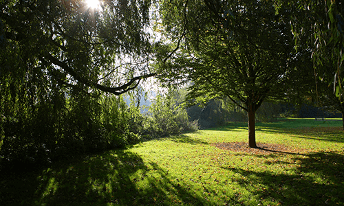
[[[331,82],[338,102],[344,102],[344,4],[341,1],[303,2],[305,19],[299,28],[310,27],[314,34],[308,40],[312,45],[315,73],[322,81]],[[296,19],[300,21],[300,19]],[[307,29],[306,29],[307,30]],[[303,30],[297,36],[307,35]],[[329,68],[330,67],[330,68]],[[344,108],[341,106],[344,115]],[[344,116],[343,116],[344,118]]]

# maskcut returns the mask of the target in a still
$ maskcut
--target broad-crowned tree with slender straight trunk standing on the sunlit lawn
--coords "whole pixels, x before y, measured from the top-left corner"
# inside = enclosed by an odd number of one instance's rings
[[[248,113],[248,146],[256,148],[255,113],[283,98],[294,54],[292,8],[274,1],[162,1],[162,23],[180,49],[161,65],[164,80],[191,81],[189,98],[226,96]],[[183,12],[181,12],[183,11]]]

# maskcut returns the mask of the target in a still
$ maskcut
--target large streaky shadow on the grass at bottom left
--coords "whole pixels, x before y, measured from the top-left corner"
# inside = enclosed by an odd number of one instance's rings
[[[204,205],[192,188],[127,150],[2,174],[0,183],[0,205]]]

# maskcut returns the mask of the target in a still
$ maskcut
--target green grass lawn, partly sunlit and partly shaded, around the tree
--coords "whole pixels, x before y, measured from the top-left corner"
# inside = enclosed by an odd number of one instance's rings
[[[247,141],[244,123],[144,141],[1,174],[0,205],[344,205],[341,121],[257,123],[257,144],[303,152],[222,150]],[[301,150],[302,149],[302,150]]]

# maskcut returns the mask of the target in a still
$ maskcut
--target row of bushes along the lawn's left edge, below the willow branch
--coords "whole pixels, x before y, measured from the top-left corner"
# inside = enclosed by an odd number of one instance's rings
[[[50,163],[136,144],[142,136],[197,130],[197,121],[189,122],[173,95],[159,95],[144,114],[135,102],[128,106],[121,96],[90,95],[77,89],[56,90],[41,99],[32,95],[0,97],[0,166]]]

